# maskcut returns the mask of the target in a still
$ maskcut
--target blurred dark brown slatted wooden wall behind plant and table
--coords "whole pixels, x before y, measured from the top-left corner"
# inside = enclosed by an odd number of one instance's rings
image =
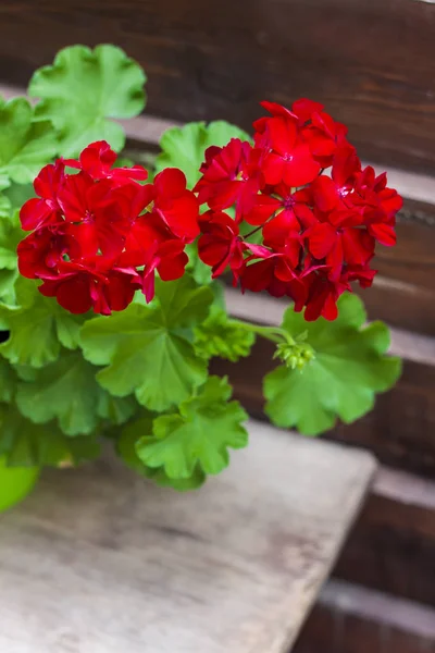
[[[151,115],[249,128],[259,100],[308,96],[348,124],[363,159],[391,171],[406,197],[399,242],[380,248],[380,278],[363,296],[370,317],[396,329],[405,370],[370,416],[326,435],[372,449],[383,468],[297,653],[435,651],[435,3],[2,0],[0,82],[24,87],[75,42],[114,42],[137,59]],[[136,146],[154,140],[142,121]],[[259,344],[215,370],[263,417],[270,367]]]

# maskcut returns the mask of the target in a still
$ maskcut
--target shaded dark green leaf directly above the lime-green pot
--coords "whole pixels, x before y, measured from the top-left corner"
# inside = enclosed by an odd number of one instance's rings
[[[0,405],[0,455],[20,467],[69,467],[98,457],[95,438],[66,438],[53,424],[32,423],[14,406]]]

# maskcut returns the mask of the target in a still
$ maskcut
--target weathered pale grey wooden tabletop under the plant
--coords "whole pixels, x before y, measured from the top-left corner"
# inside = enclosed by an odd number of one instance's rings
[[[190,494],[111,460],[46,473],[0,518],[0,651],[287,651],[375,463],[249,428],[249,448]]]

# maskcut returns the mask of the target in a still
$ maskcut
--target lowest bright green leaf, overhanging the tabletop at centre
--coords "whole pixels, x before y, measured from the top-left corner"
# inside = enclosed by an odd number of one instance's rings
[[[141,461],[163,468],[171,479],[189,479],[198,467],[204,473],[222,471],[229,463],[227,448],[248,443],[247,415],[238,402],[228,402],[231,394],[226,379],[210,377],[179,412],[154,419],[152,434],[145,432],[137,444]]]

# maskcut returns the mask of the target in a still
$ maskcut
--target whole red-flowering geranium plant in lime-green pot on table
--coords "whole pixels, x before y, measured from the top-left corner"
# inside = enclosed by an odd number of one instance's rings
[[[145,82],[119,48],[75,46],[34,74],[33,104],[0,104],[0,509],[103,439],[156,483],[201,485],[248,444],[209,361],[257,337],[278,361],[265,410],[301,433],[360,418],[400,373],[351,288],[372,284],[401,199],[346,127],[311,100],[263,102],[253,138],[171,128],[147,170],[113,120],[142,111]],[[279,328],[228,316],[228,273],[285,299]]]

